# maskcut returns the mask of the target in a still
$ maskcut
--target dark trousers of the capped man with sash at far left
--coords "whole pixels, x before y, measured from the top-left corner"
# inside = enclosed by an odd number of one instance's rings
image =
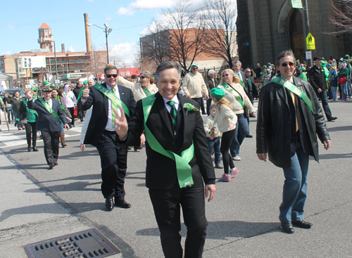
[[[48,165],[58,161],[60,131],[42,131],[44,155]]]

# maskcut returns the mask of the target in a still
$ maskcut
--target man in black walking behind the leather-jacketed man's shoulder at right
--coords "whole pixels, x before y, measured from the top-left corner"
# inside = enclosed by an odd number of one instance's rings
[[[327,81],[324,69],[322,68],[322,58],[315,56],[313,60],[314,65],[310,68],[308,73],[310,85],[313,86],[315,93],[322,101],[322,108],[324,108],[327,121],[337,120],[337,117],[332,116],[329,103],[327,103]]]

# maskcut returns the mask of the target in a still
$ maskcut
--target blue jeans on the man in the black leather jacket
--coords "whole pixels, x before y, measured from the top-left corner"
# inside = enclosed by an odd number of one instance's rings
[[[291,167],[283,167],[285,181],[279,215],[279,219],[283,222],[303,220],[307,198],[308,165],[309,155],[304,153],[298,141],[296,153],[291,157]]]

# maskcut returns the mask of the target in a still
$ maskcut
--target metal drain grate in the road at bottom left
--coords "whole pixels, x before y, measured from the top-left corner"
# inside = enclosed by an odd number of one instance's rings
[[[25,245],[29,258],[100,258],[120,253],[95,228]]]

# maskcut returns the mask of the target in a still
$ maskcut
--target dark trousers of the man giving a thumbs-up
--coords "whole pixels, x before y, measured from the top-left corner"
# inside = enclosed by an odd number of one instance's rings
[[[125,200],[127,147],[116,144],[115,131],[103,131],[96,148],[101,161],[101,193],[104,198]]]

